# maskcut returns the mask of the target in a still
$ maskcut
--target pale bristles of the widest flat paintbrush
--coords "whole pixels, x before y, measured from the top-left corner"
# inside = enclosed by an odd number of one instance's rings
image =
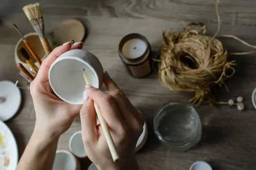
[[[29,20],[42,18],[42,12],[39,3],[26,5],[23,7],[23,11],[27,15]]]

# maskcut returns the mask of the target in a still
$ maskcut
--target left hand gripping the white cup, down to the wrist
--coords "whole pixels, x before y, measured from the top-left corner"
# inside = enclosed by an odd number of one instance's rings
[[[64,52],[81,49],[82,42],[65,43],[56,47],[42,62],[38,75],[30,85],[35,111],[36,125],[34,132],[43,138],[54,139],[71,126],[74,118],[79,115],[81,105],[71,105],[54,95],[49,83],[48,72],[54,60]]]

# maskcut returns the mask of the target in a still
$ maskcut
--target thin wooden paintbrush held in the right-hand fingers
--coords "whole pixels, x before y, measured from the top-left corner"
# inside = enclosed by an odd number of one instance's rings
[[[83,76],[84,76],[85,83],[87,85],[90,85],[89,77],[87,75],[87,72],[85,72],[84,69],[83,69]],[[94,102],[94,107],[95,107],[95,111],[97,113],[97,117],[100,121],[100,125],[102,127],[103,133],[105,135],[105,138],[106,138],[106,141],[107,141],[107,144],[108,144],[108,148],[110,150],[113,161],[117,162],[120,159],[120,157],[118,155],[118,152],[117,152],[116,147],[115,147],[115,143],[114,143],[113,138],[112,138],[112,136],[110,134],[110,131],[108,129],[108,125],[105,122],[104,118],[102,117],[102,115],[100,113],[100,109],[99,109],[98,105],[95,102]]]

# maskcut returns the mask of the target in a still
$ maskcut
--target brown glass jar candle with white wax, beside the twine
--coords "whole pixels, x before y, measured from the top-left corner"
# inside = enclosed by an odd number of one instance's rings
[[[131,76],[141,78],[152,72],[151,47],[143,35],[132,33],[123,37],[118,53]]]

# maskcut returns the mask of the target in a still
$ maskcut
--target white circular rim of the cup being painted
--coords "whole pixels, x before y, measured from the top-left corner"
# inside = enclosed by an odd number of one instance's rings
[[[60,55],[61,56],[61,55]],[[64,100],[65,102],[68,102],[72,105],[82,105],[84,102],[74,102],[74,101],[70,101],[70,100],[67,100],[65,99],[64,97],[61,97],[61,95],[59,95],[59,93],[56,92],[52,82],[51,82],[51,72],[52,72],[52,69],[53,67],[58,64],[58,62],[61,62],[63,60],[77,60],[77,61],[80,61],[82,63],[84,63],[85,65],[87,65],[88,67],[90,67],[90,69],[92,70],[92,72],[94,73],[95,77],[96,77],[96,80],[97,80],[97,87],[95,88],[99,88],[100,87],[100,80],[99,80],[99,75],[97,74],[96,70],[92,67],[92,65],[90,64],[90,62],[87,62],[85,60],[82,60],[81,58],[79,57],[73,57],[73,56],[65,56],[65,57],[58,57],[51,65],[50,69],[49,69],[49,73],[48,73],[48,78],[49,78],[49,83],[51,85],[51,88],[52,90],[54,91],[54,93],[59,97],[61,98],[61,100]]]

